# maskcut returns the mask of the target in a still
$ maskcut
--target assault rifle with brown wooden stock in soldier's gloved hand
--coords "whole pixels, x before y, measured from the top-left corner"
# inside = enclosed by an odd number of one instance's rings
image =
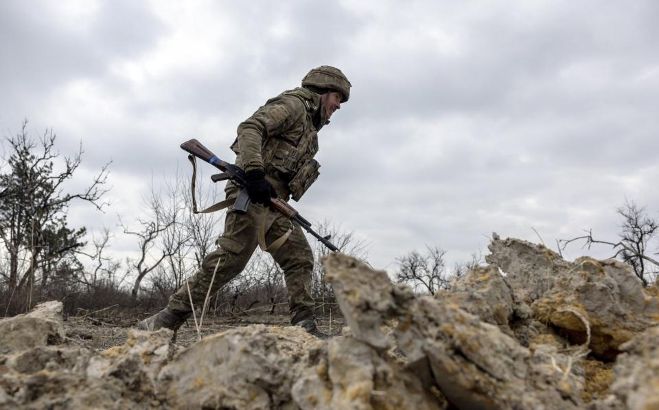
[[[245,172],[240,167],[235,166],[232,163],[222,161],[216,157],[216,155],[213,154],[211,150],[203,146],[203,144],[194,138],[181,144],[181,149],[189,153],[189,158],[191,158],[193,164],[194,157],[197,157],[222,171],[220,174],[211,175],[211,180],[213,182],[227,181],[228,179],[235,183],[235,185],[241,187],[242,190],[240,190],[240,194],[238,194],[238,197],[235,199],[235,203],[233,204],[233,212],[238,214],[245,214],[247,212],[247,208],[249,207],[251,201],[246,190],[247,182],[245,179]],[[192,189],[194,190],[194,183]],[[338,252],[338,248],[335,247],[332,242],[329,242],[329,239],[332,238],[331,235],[320,236],[318,233],[316,233],[316,231],[312,229],[311,223],[305,218],[302,218],[302,216],[300,216],[300,214],[292,206],[288,205],[286,201],[279,197],[273,197],[270,198],[270,206],[274,209],[277,209],[277,211],[281,212],[281,214],[286,216],[286,218],[296,222],[298,225],[303,227],[304,230],[309,232],[309,234],[314,236],[314,238],[323,242],[323,244],[329,248],[329,250]]]

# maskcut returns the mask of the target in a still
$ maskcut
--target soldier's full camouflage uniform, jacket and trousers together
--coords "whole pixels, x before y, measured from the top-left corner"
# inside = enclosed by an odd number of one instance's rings
[[[347,100],[347,95],[343,95]],[[317,132],[324,125],[320,104],[321,95],[306,88],[284,91],[268,100],[238,126],[238,137],[231,146],[237,155],[236,165],[245,171],[263,169],[280,198],[288,201],[292,196],[299,200],[319,175],[320,166],[313,158],[318,152]],[[228,183],[225,192],[227,198],[234,198],[239,189]],[[217,240],[218,249],[204,258],[201,268],[189,279],[195,306],[203,304],[216,265],[211,293],[244,269],[257,247],[257,229],[263,223],[268,244],[292,228],[288,240],[271,255],[284,271],[291,323],[313,317],[310,291],[314,256],[302,229],[285,216],[255,203],[247,214],[231,210],[227,213],[224,233]],[[179,316],[191,311],[185,285],[170,297],[168,308]]]

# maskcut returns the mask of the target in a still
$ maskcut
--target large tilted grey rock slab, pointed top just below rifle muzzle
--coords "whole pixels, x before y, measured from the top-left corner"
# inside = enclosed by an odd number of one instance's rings
[[[578,408],[583,381],[567,367],[537,363],[527,348],[456,304],[393,285],[383,271],[346,255],[323,261],[326,278],[356,339],[380,348],[376,329],[398,321],[398,348],[411,363],[430,363],[435,383],[459,408]],[[376,303],[370,303],[370,301]],[[365,329],[360,329],[364,326]],[[553,354],[554,361],[568,361]],[[579,382],[579,383],[577,383]]]

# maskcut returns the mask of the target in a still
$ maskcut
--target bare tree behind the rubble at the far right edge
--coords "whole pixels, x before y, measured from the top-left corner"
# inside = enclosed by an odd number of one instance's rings
[[[588,229],[586,235],[559,240],[559,249],[565,250],[568,244],[579,240],[584,240],[583,247],[588,249],[592,244],[608,245],[614,249],[612,258],[620,258],[632,266],[643,286],[648,286],[656,279],[659,268],[659,261],[647,254],[649,243],[657,236],[659,220],[651,218],[645,207],[639,207],[634,201],[625,200],[625,205],[619,207],[617,213],[622,218],[618,242],[597,240],[592,236],[592,229]]]

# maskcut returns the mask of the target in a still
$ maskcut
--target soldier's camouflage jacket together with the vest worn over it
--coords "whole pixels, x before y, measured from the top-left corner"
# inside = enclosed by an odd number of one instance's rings
[[[277,95],[238,126],[231,145],[236,164],[246,171],[262,168],[279,196],[295,201],[319,176],[321,96],[297,88]]]

